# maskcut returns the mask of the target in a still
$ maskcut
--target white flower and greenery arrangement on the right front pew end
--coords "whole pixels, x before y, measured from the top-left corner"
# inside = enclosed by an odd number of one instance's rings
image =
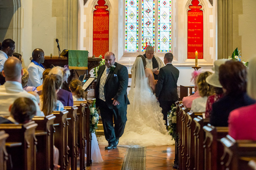
[[[169,135],[172,135],[172,139],[176,140],[177,133],[176,133],[176,110],[177,107],[172,104],[172,109],[168,112],[167,120],[168,120],[168,129],[169,129]]]

